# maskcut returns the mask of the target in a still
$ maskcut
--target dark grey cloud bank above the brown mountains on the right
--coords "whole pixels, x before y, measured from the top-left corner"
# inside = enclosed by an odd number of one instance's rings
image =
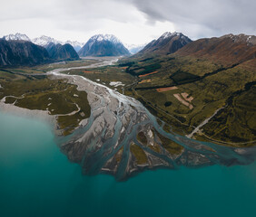
[[[253,0],[134,0],[130,2],[146,15],[150,23],[170,21],[179,31],[194,38],[224,33],[256,34],[256,2]]]

